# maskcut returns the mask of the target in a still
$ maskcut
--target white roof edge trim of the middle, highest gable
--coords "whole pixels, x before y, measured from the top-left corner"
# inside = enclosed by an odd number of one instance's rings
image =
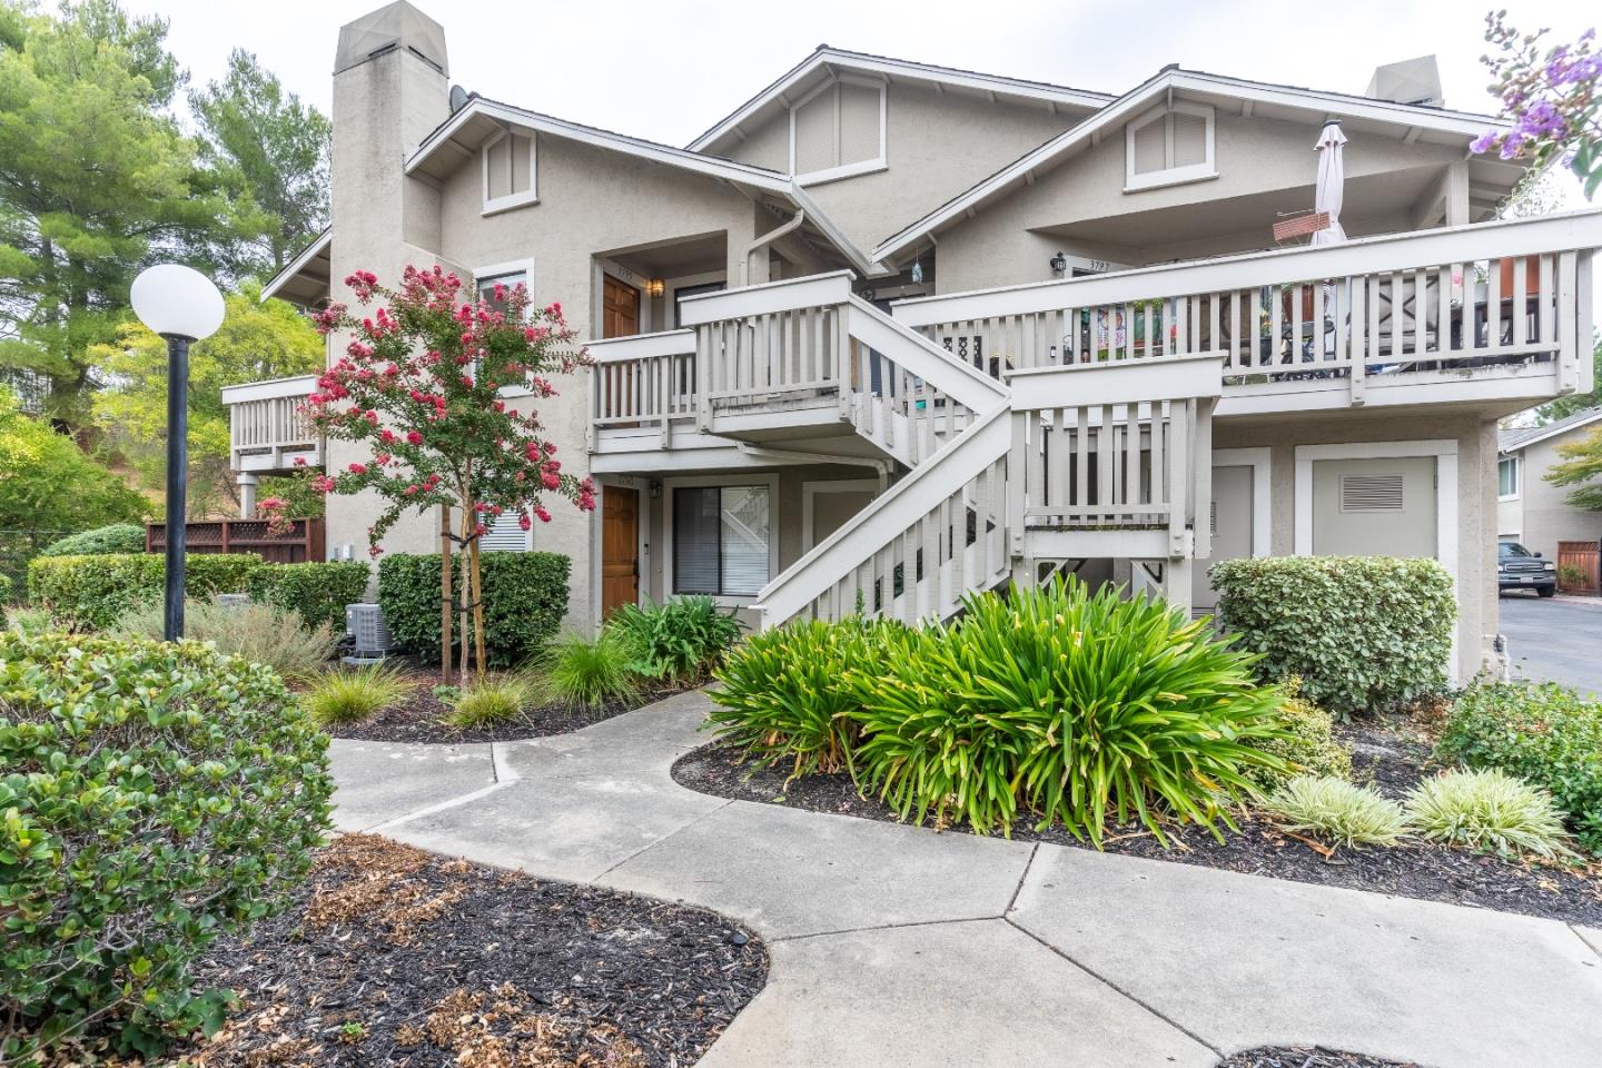
[[[932,82],[942,86],[990,93],[992,98],[1011,96],[1016,99],[1045,101],[1053,107],[1062,106],[1075,112],[1094,110],[1113,99],[1109,93],[1073,90],[1065,85],[1051,85],[1049,82],[1030,82],[1027,78],[1009,78],[1000,74],[980,74],[977,70],[939,67],[928,62],[892,59],[889,56],[873,56],[863,51],[847,51],[844,48],[819,45],[811,56],[790,67],[790,70],[782,74],[777,82],[724,115],[711,126],[711,130],[690,141],[690,151],[705,152],[718,147],[729,135],[742,136],[740,130],[743,125],[761,122],[766,118],[767,112],[777,112],[788,107],[788,96],[791,94],[791,90],[804,85],[823,69],[859,70],[884,78]]]

